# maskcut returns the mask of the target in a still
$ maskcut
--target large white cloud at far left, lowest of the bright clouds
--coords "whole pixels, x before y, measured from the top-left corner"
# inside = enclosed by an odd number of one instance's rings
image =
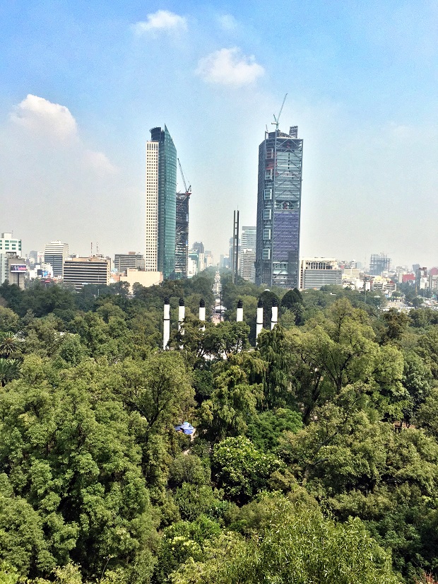
[[[35,134],[45,134],[61,140],[76,136],[78,129],[76,119],[68,107],[37,95],[29,94],[19,103],[11,114],[11,119]]]

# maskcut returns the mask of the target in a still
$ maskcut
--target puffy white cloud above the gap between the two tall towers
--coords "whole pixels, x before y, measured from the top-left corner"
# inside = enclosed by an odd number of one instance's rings
[[[236,87],[254,83],[264,72],[254,56],[247,57],[237,47],[220,49],[203,57],[196,69],[196,74],[208,83]]]

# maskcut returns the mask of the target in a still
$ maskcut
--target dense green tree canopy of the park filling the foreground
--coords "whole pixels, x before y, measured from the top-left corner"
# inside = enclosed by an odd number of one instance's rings
[[[437,580],[436,313],[213,278],[0,286],[0,583]]]

